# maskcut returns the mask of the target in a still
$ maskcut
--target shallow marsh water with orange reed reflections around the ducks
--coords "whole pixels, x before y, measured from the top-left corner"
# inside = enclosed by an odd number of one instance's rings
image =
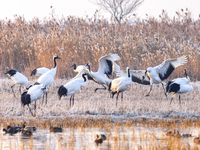
[[[0,149],[2,150],[94,150],[94,149],[167,149],[171,148],[200,148],[193,143],[198,136],[200,128],[189,127],[178,131],[181,134],[189,133],[192,137],[175,138],[165,135],[169,128],[134,125],[131,127],[110,126],[108,128],[64,128],[62,133],[52,133],[48,129],[40,129],[33,136],[23,137],[20,133],[13,136],[2,133],[0,135]],[[2,126],[1,126],[2,131]],[[99,145],[94,142],[95,134],[105,134],[107,139]]]

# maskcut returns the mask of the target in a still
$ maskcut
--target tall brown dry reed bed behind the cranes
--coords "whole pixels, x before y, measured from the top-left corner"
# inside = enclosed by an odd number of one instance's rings
[[[124,20],[121,26],[111,18],[106,20],[98,11],[93,17],[63,17],[52,13],[47,19],[26,21],[0,20],[0,76],[15,69],[30,76],[37,67],[53,67],[57,54],[57,77],[73,77],[70,66],[90,63],[97,71],[98,59],[109,53],[121,57],[121,69],[145,70],[168,58],[188,56],[188,63],[173,72],[170,78],[182,77],[183,67],[191,80],[200,80],[200,20],[193,20],[186,10],[176,12],[170,19],[165,11],[159,19],[148,17]]]

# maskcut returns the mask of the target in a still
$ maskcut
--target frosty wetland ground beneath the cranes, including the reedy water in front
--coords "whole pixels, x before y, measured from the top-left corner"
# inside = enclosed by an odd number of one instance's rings
[[[108,91],[94,93],[98,84],[88,82],[75,94],[75,103],[69,107],[70,96],[58,100],[58,87],[67,80],[56,79],[49,89],[48,103],[37,101],[36,117],[28,108],[23,110],[18,85],[14,87],[14,98],[10,79],[0,79],[1,131],[7,125],[27,122],[37,131],[30,138],[20,133],[14,136],[0,135],[0,149],[198,149],[193,142],[200,131],[200,83],[191,83],[194,90],[182,95],[181,105],[175,96],[171,105],[161,85],[154,85],[149,97],[145,94],[149,86],[132,83],[124,92],[123,101],[115,105]],[[34,83],[34,79],[30,81]],[[31,106],[33,108],[33,106]],[[60,126],[63,133],[50,133],[50,126]],[[165,132],[176,129],[188,138],[167,137]],[[107,140],[101,145],[94,143],[95,134],[105,134]]]

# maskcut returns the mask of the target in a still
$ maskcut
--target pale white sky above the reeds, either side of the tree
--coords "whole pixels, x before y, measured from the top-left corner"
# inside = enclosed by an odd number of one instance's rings
[[[24,15],[27,20],[34,17],[43,19],[49,17],[50,6],[55,8],[58,17],[72,15],[84,17],[92,16],[98,6],[89,0],[1,0],[0,19],[13,19],[13,15]],[[200,14],[200,0],[145,0],[135,12],[138,17],[144,19],[145,14],[158,18],[162,10],[166,10],[170,17],[175,15],[175,11],[188,8],[192,12],[194,19],[198,19]],[[101,10],[101,15],[109,18],[110,14]]]

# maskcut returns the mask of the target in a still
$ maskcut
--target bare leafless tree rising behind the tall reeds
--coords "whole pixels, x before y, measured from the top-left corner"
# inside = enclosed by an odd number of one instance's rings
[[[122,18],[132,14],[144,0],[90,0],[111,13],[120,24]]]

